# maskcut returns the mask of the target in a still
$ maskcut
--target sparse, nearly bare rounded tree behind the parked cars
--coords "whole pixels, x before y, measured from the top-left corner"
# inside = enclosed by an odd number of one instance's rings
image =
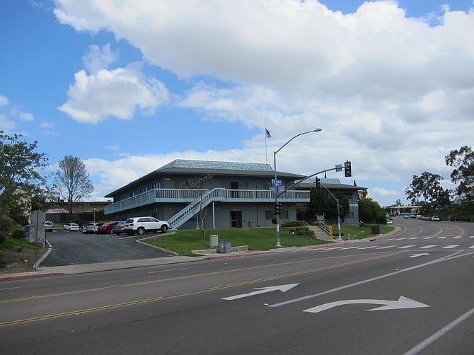
[[[54,183],[63,199],[67,199],[69,214],[72,214],[74,202],[91,196],[94,190],[86,164],[74,156],[65,156],[58,163],[59,169],[54,173]]]

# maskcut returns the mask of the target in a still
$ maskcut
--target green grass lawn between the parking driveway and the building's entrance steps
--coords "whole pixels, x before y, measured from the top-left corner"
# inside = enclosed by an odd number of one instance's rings
[[[276,228],[228,228],[209,229],[206,231],[206,241],[202,240],[200,230],[186,229],[176,231],[175,234],[158,235],[146,241],[160,248],[172,250],[182,256],[195,256],[191,250],[209,249],[210,235],[218,235],[219,242],[231,242],[231,246],[248,245],[249,250],[270,250],[276,248]],[[306,245],[318,245],[330,243],[326,240],[318,240],[299,235],[291,235],[288,231],[280,228],[280,244],[283,247],[303,247]]]

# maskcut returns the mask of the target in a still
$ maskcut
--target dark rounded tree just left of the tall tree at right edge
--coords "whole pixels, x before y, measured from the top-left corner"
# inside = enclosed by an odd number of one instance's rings
[[[405,189],[405,194],[412,204],[430,204],[431,206],[446,206],[449,204],[449,190],[441,187],[441,178],[438,174],[424,171],[422,175],[413,175],[410,187]]]

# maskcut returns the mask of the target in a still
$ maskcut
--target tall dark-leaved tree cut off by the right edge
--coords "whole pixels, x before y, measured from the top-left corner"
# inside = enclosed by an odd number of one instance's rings
[[[474,151],[470,146],[449,152],[444,157],[446,165],[454,168],[451,181],[458,184],[456,194],[461,200],[474,200]]]

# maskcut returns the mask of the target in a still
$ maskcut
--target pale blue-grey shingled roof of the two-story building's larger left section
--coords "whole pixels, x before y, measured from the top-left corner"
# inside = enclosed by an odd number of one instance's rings
[[[229,175],[229,176],[246,176],[259,178],[274,178],[274,170],[270,164],[264,163],[242,163],[231,161],[194,161],[186,159],[176,159],[170,163],[163,165],[149,174],[138,178],[128,185],[120,187],[105,197],[112,197],[122,190],[126,190],[131,185],[138,185],[140,182],[149,180],[163,175]],[[277,178],[283,178],[291,181],[301,180],[304,175],[277,172]]]

